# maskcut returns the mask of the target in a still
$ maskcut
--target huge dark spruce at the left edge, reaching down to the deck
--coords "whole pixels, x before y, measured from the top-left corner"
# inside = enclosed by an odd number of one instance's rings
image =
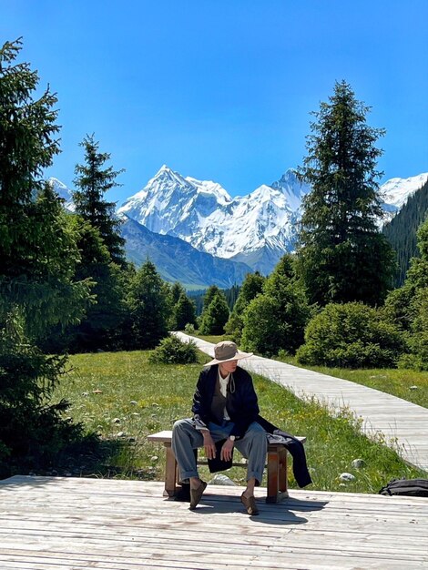
[[[35,98],[38,76],[15,63],[21,42],[0,48],[0,477],[46,466],[80,428],[51,402],[65,359],[29,336],[76,321],[89,285],[61,203],[42,178],[59,152],[56,97]]]

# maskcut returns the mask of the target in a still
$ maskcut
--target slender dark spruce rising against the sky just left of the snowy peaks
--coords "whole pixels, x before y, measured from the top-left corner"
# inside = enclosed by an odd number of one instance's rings
[[[97,228],[107,246],[112,261],[126,265],[125,239],[119,234],[120,220],[115,216],[116,203],[107,202],[103,197],[108,190],[120,186],[117,176],[124,170],[113,167],[103,168],[110,159],[107,152],[99,152],[99,143],[94,135],[87,135],[80,143],[85,149],[85,165],[76,165],[74,183],[78,190],[73,192],[76,213]]]

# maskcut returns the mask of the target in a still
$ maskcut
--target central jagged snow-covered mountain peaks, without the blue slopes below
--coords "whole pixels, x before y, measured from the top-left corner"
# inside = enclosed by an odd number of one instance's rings
[[[272,185],[232,199],[219,184],[184,178],[164,165],[117,211],[217,257],[257,258],[251,267],[269,272],[272,258],[275,264],[294,243],[301,198],[309,189],[289,170]]]

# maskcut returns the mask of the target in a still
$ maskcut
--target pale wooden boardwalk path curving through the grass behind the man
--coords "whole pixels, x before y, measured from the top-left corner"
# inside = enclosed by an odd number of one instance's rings
[[[182,339],[192,339],[199,350],[213,355],[214,345],[207,341],[178,332]],[[240,361],[242,368],[256,372],[273,382],[278,382],[298,397],[314,396],[328,405],[331,411],[348,407],[362,418],[362,431],[369,437],[382,433],[386,443],[409,463],[428,471],[428,410],[412,402],[406,402],[391,394],[367,388],[355,382],[333,378],[320,372],[312,372],[272,361],[260,356]]]

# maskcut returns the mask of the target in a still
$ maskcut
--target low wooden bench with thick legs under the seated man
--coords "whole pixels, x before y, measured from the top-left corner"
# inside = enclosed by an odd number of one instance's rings
[[[178,490],[178,465],[171,448],[172,431],[153,433],[148,436],[150,442],[163,443],[167,452],[165,465],[165,491],[164,496],[172,497]],[[306,442],[306,437],[298,437],[301,443]],[[197,451],[197,450],[196,450]],[[197,459],[198,461],[198,459]],[[198,461],[198,464],[206,462]],[[233,463],[234,466],[246,467],[246,463]],[[287,481],[287,449],[281,443],[268,444],[267,458],[268,486],[266,503],[279,503],[289,496]]]

